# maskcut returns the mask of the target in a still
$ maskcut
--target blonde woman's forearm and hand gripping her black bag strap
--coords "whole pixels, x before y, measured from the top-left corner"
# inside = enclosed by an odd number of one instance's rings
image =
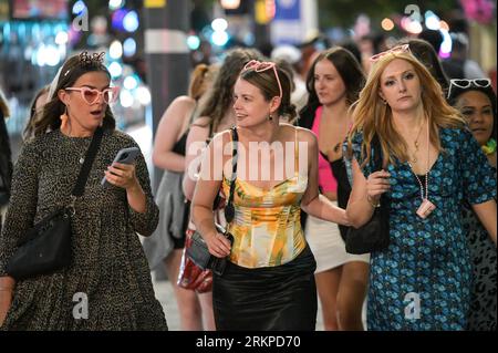
[[[365,178],[356,158],[352,160],[353,186],[347,201],[346,214],[354,228],[365,225],[378,205],[381,195],[390,189],[390,174],[385,170],[374,172]]]

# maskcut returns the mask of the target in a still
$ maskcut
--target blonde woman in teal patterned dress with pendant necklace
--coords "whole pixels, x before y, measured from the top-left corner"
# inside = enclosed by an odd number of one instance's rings
[[[382,194],[390,200],[391,243],[371,255],[367,329],[465,330],[473,272],[461,205],[471,205],[496,246],[494,172],[407,45],[372,61],[353,113],[346,210],[360,227]],[[374,134],[383,170],[373,169]]]

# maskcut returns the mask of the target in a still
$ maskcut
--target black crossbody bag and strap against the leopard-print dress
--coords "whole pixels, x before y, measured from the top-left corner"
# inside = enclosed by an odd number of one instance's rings
[[[76,185],[71,193],[71,204],[43,218],[19,239],[18,249],[6,268],[7,273],[15,280],[52,273],[70,266],[72,260],[71,217],[75,212],[74,203],[84,193],[102,135],[102,128],[97,128],[93,135]]]

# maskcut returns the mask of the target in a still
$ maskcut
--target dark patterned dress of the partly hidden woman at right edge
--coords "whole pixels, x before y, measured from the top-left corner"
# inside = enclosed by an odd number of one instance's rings
[[[464,208],[463,224],[467,231],[474,268],[467,330],[496,331],[497,249],[476,214],[468,206]]]

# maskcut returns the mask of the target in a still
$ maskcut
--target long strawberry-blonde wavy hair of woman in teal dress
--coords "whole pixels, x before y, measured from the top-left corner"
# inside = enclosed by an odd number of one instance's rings
[[[376,61],[369,74],[366,84],[360,92],[359,100],[351,106],[353,126],[347,136],[349,156],[352,156],[352,139],[357,133],[363,133],[361,157],[365,166],[371,157],[372,138],[377,134],[383,154],[383,167],[395,164],[395,158],[401,162],[408,160],[407,145],[393,124],[393,113],[388,104],[384,104],[380,96],[381,76],[386,66],[396,59],[402,59],[412,64],[422,86],[422,105],[424,115],[430,126],[430,142],[442,152],[439,128],[464,127],[466,122],[460,113],[452,107],[445,100],[439,83],[430,75],[429,71],[411,53],[387,53]]]

